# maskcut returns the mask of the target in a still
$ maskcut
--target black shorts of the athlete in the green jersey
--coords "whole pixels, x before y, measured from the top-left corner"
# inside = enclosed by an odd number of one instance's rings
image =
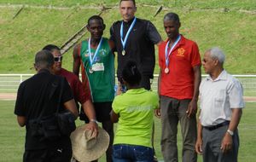
[[[110,112],[112,110],[112,101],[104,101],[104,102],[94,102],[93,103],[95,113],[96,113],[96,120],[98,122],[104,122],[110,120]],[[80,111],[80,120],[84,120],[85,123],[89,123],[89,119],[84,114],[83,108]]]

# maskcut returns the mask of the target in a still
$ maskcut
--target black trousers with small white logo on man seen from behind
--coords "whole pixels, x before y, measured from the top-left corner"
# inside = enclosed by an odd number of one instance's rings
[[[26,150],[23,162],[70,162],[72,148],[48,148]]]

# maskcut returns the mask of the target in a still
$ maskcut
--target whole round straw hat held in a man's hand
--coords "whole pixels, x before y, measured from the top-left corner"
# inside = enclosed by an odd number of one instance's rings
[[[98,136],[92,130],[86,129],[86,124],[77,127],[71,134],[73,157],[79,162],[99,159],[106,152],[109,136],[106,130],[99,128]]]

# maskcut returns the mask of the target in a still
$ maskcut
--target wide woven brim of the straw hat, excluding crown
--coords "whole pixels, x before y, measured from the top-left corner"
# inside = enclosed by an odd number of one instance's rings
[[[98,136],[96,137],[96,144],[91,149],[85,149],[81,146],[82,138],[84,136],[86,124],[80,125],[76,130],[71,134],[71,142],[73,149],[73,157],[79,162],[88,162],[102,157],[108,149],[109,145],[109,136],[106,130],[103,130],[101,127],[98,127]]]

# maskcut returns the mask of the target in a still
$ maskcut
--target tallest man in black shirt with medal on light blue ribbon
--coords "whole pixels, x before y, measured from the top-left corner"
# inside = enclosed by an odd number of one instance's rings
[[[150,78],[154,74],[154,44],[161,42],[160,34],[149,20],[135,17],[137,7],[134,0],[120,0],[119,11],[123,20],[113,23],[110,39],[115,43],[118,53],[117,75],[122,82],[121,72],[125,62],[137,62],[143,74],[141,87],[150,90]]]

